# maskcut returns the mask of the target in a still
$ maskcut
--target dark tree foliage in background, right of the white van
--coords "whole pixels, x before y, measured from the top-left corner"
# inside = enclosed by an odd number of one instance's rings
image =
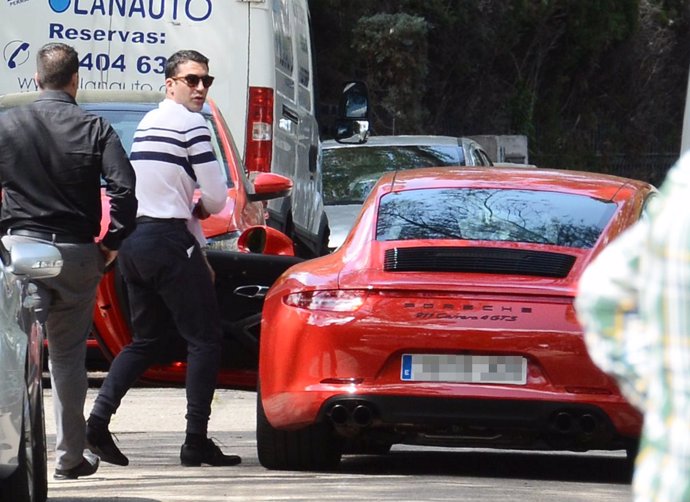
[[[526,134],[545,167],[660,181],[679,150],[687,0],[311,0],[323,103],[367,81],[378,134]]]

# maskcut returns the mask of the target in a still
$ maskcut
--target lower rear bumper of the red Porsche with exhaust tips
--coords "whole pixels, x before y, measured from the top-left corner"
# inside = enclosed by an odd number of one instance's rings
[[[330,423],[343,437],[391,444],[573,451],[627,449],[642,426],[640,413],[619,396],[478,397],[440,389],[415,393],[411,387],[408,393],[328,387],[265,396],[269,421],[283,429]]]

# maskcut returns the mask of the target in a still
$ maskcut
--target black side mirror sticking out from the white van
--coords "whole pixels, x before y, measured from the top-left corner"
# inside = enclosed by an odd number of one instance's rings
[[[338,104],[335,140],[339,143],[366,143],[369,137],[369,91],[359,80],[345,83]]]

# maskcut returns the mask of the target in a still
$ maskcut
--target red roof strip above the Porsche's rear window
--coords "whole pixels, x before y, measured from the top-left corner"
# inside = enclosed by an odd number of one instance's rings
[[[635,190],[655,190],[644,181],[588,171],[453,166],[392,171],[381,177],[379,187],[385,185],[392,191],[447,187],[567,191],[600,199],[614,197],[624,186]]]

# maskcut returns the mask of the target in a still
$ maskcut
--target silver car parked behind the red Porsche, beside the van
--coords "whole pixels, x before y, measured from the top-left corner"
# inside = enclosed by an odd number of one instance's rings
[[[321,144],[323,201],[331,229],[329,249],[339,247],[364,199],[387,171],[437,166],[492,166],[484,148],[454,136],[369,136],[365,143]]]

